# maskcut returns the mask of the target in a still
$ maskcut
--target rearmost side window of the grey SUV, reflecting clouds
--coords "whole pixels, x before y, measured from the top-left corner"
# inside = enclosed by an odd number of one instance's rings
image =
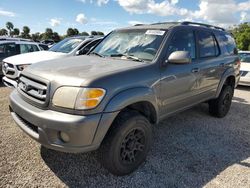
[[[237,55],[237,48],[234,38],[228,34],[219,35],[220,45],[222,46],[223,55]]]

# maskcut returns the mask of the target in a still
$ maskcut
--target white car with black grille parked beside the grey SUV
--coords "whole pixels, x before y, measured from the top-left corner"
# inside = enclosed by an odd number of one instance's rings
[[[101,41],[100,37],[71,37],[55,44],[48,51],[21,54],[3,60],[3,83],[8,87],[16,87],[18,77],[28,65],[70,56],[84,55],[91,47]]]

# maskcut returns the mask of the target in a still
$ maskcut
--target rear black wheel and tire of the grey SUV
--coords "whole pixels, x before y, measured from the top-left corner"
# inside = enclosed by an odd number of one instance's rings
[[[225,85],[219,97],[209,102],[209,113],[218,118],[225,117],[230,110],[233,94],[232,86]]]

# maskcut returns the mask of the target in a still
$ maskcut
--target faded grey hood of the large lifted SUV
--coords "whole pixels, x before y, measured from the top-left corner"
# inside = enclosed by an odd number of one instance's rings
[[[84,55],[37,63],[27,67],[23,74],[56,81],[63,85],[80,86],[87,80],[92,81],[102,76],[145,65],[148,63]]]

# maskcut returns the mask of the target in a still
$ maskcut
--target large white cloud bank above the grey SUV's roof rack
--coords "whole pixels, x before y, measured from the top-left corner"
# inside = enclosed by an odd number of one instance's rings
[[[198,9],[178,6],[179,0],[117,0],[130,14],[153,14],[162,17],[176,16],[179,20],[193,20],[213,24],[236,24],[249,21],[250,0],[199,0]],[[240,18],[239,18],[239,15]]]

